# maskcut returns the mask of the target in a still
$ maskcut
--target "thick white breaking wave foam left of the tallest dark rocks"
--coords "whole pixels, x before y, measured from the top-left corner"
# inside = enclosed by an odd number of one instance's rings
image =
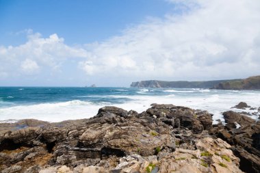
[[[0,109],[0,120],[34,118],[49,122],[90,118],[96,115],[100,107],[107,105],[92,104],[86,101],[67,101],[62,103],[42,103],[38,105],[21,105]]]

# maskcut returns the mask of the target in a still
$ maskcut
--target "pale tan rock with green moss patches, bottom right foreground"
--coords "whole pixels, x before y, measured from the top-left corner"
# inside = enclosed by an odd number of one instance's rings
[[[231,146],[221,139],[196,139],[196,147],[197,150],[177,148],[159,161],[159,172],[242,172],[237,167],[239,159],[229,149]],[[223,155],[231,161],[222,159]]]

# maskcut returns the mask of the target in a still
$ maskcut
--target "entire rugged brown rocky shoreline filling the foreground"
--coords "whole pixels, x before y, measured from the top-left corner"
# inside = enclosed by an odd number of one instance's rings
[[[260,121],[226,111],[225,124],[212,124],[207,111],[151,106],[141,114],[103,107],[90,119],[2,123],[0,171],[259,172]]]

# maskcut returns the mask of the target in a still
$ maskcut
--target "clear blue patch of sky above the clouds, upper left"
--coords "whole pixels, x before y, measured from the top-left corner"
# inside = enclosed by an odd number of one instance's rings
[[[161,0],[1,0],[0,43],[25,42],[25,34],[15,34],[24,29],[33,29],[43,37],[57,33],[66,38],[66,44],[101,41],[148,16],[162,17],[171,9]]]

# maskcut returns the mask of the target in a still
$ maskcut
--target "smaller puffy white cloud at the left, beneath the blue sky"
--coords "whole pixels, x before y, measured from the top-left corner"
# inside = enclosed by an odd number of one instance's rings
[[[31,29],[22,31],[24,32],[28,39],[25,44],[0,46],[0,72],[5,71],[11,75],[24,72],[25,75],[32,75],[41,67],[57,70],[61,62],[68,58],[87,57],[86,50],[68,46],[64,43],[64,38],[59,38],[57,34],[42,38],[40,33],[34,33]]]

